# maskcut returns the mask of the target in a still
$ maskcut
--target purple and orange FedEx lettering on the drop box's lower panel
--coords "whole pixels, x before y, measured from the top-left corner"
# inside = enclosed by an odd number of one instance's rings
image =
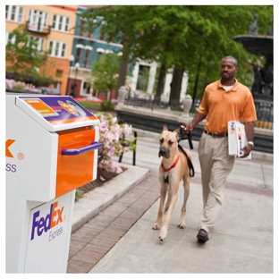
[[[35,232],[37,232],[38,236],[41,236],[43,232],[47,232],[51,228],[55,227],[55,225],[63,222],[62,214],[64,207],[57,207],[58,201],[56,201],[50,206],[49,214],[47,214],[46,217],[40,217],[39,210],[34,213],[32,222],[31,241],[35,237]]]

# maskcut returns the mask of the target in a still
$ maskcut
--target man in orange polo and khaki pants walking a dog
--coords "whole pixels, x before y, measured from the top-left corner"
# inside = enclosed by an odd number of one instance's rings
[[[224,198],[225,180],[232,171],[234,156],[228,155],[228,121],[244,122],[248,144],[242,148],[243,156],[249,156],[253,148],[254,122],[257,120],[252,94],[248,87],[234,78],[238,62],[232,56],[221,61],[221,79],[207,85],[199,109],[184,131],[194,127],[207,117],[199,140],[199,164],[203,190],[203,213],[197,235],[199,242],[209,240],[217,214]]]

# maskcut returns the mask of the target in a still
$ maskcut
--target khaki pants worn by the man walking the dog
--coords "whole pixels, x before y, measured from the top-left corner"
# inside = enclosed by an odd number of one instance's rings
[[[232,171],[234,157],[228,155],[228,138],[215,138],[202,133],[199,140],[199,164],[203,192],[203,213],[199,229],[213,230],[222,206],[225,180]]]

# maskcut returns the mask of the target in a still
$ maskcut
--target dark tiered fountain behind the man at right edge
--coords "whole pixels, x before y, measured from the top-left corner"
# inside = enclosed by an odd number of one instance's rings
[[[274,36],[273,28],[266,35],[258,35],[258,16],[250,24],[249,33],[235,36],[233,39],[253,55],[265,56],[263,66],[253,65],[254,81],[251,88],[258,114],[258,121],[272,123],[274,121]],[[263,127],[267,128],[267,127]]]

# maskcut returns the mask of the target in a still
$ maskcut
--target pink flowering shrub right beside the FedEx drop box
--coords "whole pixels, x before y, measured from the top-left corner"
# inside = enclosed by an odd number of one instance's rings
[[[123,170],[113,156],[120,156],[122,152],[136,148],[135,139],[127,140],[131,136],[132,127],[127,123],[119,124],[117,117],[112,114],[98,113],[99,141],[103,144],[98,149],[97,166],[111,173],[122,173]]]

